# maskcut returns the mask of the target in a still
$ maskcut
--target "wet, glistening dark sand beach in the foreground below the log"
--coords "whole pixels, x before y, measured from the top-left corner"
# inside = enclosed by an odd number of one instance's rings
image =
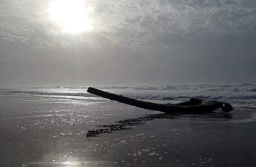
[[[164,114],[0,96],[0,166],[256,166],[255,109]]]

